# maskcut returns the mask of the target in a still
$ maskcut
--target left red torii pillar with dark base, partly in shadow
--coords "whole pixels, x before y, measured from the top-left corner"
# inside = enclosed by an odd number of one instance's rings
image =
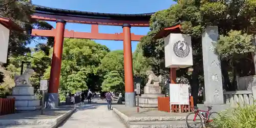
[[[66,21],[56,20],[56,35],[54,37],[51,74],[48,88],[48,102],[49,108],[56,108],[59,103],[58,90],[59,90],[59,77],[61,69],[61,57],[63,51],[63,40]]]

